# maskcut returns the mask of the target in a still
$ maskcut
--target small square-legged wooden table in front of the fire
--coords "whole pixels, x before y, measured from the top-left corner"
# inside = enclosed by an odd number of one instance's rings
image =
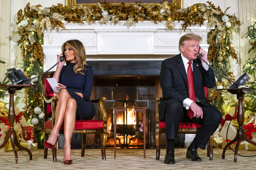
[[[135,109],[136,112],[143,114],[143,126],[146,125],[146,110],[147,107],[113,107],[114,109],[114,159],[116,159],[116,117],[120,112],[125,111],[126,109]],[[137,119],[137,117],[136,117]],[[146,133],[143,129],[143,149],[144,149],[144,159],[146,158]]]

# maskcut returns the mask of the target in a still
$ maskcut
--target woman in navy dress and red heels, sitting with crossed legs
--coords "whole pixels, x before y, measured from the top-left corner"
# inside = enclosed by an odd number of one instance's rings
[[[60,126],[64,122],[64,164],[72,164],[70,142],[75,120],[89,120],[95,115],[95,107],[90,100],[93,86],[93,69],[86,64],[84,45],[79,40],[68,40],[62,45],[65,62],[59,62],[53,77],[60,91],[55,112],[55,125],[44,147],[52,149],[58,140]],[[66,65],[64,65],[66,63]]]

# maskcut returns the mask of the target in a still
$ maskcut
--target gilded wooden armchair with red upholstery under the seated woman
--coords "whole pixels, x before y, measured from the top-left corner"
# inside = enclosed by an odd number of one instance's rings
[[[50,90],[50,85],[46,78],[53,77],[54,72],[48,72],[41,76],[41,84],[43,90],[43,110],[45,113],[44,116],[44,141],[48,139],[49,134],[52,131],[52,128],[55,123],[55,109],[56,102],[58,99],[59,93],[53,92]],[[102,159],[106,159],[106,141],[107,141],[107,114],[104,108],[104,101],[106,101],[105,97],[101,97],[98,99],[92,99],[93,103],[98,103],[99,112],[100,112],[100,120],[92,119],[92,120],[76,120],[74,134],[81,134],[82,138],[82,151],[81,157],[84,157],[85,152],[85,139],[86,134],[92,133],[100,133],[101,138],[101,156]],[[48,120],[48,118],[51,118]],[[64,126],[60,127],[59,134],[64,133]],[[47,158],[48,149],[44,148],[44,158]],[[52,158],[53,162],[57,161],[57,144],[55,144],[52,150]]]

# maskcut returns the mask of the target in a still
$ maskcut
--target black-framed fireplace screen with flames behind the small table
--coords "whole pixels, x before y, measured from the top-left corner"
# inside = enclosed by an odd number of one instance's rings
[[[148,126],[150,124],[150,118],[148,112],[146,112],[146,124],[143,124],[143,115],[140,112],[136,112],[135,109],[126,109],[124,112],[117,114],[116,118],[116,134],[114,134],[114,110],[113,107],[147,107],[150,108],[149,100],[107,100],[111,103],[111,122],[108,126],[108,140],[107,146],[113,147],[114,135],[116,135],[116,145],[122,148],[137,148],[143,147],[143,131],[146,131],[146,143],[148,143],[148,137],[150,136]]]

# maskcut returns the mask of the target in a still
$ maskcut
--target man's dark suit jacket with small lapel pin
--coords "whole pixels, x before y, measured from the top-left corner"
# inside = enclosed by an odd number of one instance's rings
[[[193,61],[194,89],[196,98],[205,106],[212,106],[208,103],[204,87],[213,88],[216,84],[213,70],[206,71],[201,60]],[[160,120],[165,116],[166,99],[177,99],[181,103],[189,98],[187,73],[182,61],[181,54],[162,61],[160,71],[160,86],[162,88],[162,100],[159,107]]]

